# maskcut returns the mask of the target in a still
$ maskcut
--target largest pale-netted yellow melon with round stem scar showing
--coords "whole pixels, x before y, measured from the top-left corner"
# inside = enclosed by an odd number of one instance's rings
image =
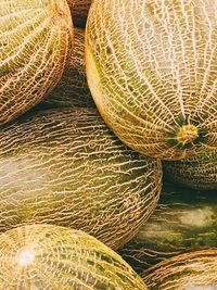
[[[217,147],[216,23],[213,0],[92,3],[88,83],[126,144],[165,160]]]

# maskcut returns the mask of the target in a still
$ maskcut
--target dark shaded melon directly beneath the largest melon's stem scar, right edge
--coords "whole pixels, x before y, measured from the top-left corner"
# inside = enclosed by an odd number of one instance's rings
[[[201,157],[163,164],[166,178],[173,182],[195,189],[217,189],[217,151],[206,152]]]

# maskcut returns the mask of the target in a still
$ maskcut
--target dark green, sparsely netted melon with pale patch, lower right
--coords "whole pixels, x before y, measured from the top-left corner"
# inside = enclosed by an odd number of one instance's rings
[[[159,203],[118,253],[138,272],[165,259],[217,249],[217,194],[164,186]]]

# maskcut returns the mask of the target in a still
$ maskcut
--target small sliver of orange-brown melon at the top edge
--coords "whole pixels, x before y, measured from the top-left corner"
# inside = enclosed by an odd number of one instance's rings
[[[73,23],[76,27],[85,27],[90,9],[90,4],[93,0],[67,0],[73,15]]]

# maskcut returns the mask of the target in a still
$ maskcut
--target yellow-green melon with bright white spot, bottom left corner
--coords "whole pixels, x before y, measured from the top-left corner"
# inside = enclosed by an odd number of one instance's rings
[[[91,236],[31,225],[0,236],[0,289],[146,290],[113,250]]]

